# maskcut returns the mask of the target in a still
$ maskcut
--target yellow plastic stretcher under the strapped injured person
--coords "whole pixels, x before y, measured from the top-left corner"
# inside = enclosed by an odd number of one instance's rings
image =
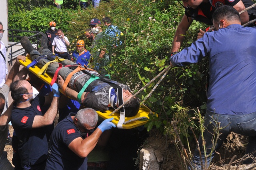
[[[25,62],[23,62],[22,60],[20,60],[19,62],[22,66],[27,67],[30,63],[32,63],[32,60],[30,59],[29,56],[27,56]],[[41,68],[39,68],[38,66],[34,66],[34,67],[29,67],[28,70],[30,72],[32,72],[33,74],[37,75],[38,72],[40,72]],[[39,78],[41,80],[43,80],[44,82],[46,82],[47,84],[50,84],[53,76],[51,76],[47,73],[44,73],[44,74],[41,74],[39,76]],[[62,92],[62,90],[60,90],[60,92]],[[62,94],[64,94],[64,93],[62,92]],[[113,111],[114,111],[114,109],[110,109],[110,110],[107,110],[104,112],[100,112],[100,111],[96,111],[96,112],[98,113],[98,116],[100,116],[104,119],[113,117],[114,120],[112,120],[112,122],[118,128],[122,128],[122,129],[131,129],[131,128],[136,128],[138,126],[142,126],[148,122],[148,119],[149,119],[148,114],[155,114],[150,108],[148,108],[144,104],[142,104],[140,106],[140,110],[139,110],[138,114],[136,114],[136,116],[125,117],[123,120],[120,120],[120,114],[118,112],[116,112],[110,116],[110,114]]]

